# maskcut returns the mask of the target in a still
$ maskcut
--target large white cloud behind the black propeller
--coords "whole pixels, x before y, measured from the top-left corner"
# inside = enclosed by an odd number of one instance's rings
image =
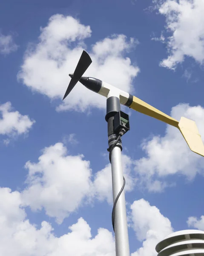
[[[73,73],[83,49],[84,39],[91,36],[90,26],[81,24],[70,16],[53,15],[46,27],[41,28],[39,43],[31,45],[24,56],[18,79],[48,96],[62,99],[69,84],[69,73]],[[130,91],[132,79],[139,69],[131,65],[124,54],[138,44],[138,41],[125,35],[112,35],[92,45],[92,64],[84,76],[102,79],[125,91]],[[105,98],[86,89],[78,83],[69,97],[57,110],[85,111],[89,107],[104,108]]]

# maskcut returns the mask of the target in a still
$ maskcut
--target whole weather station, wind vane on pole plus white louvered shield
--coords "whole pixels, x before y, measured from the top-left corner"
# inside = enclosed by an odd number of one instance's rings
[[[121,137],[130,129],[129,116],[121,111],[121,104],[145,115],[172,125],[181,131],[190,149],[204,156],[201,135],[193,120],[181,116],[180,121],[152,107],[141,99],[118,89],[111,84],[92,77],[83,77],[92,60],[83,51],[75,72],[69,74],[71,81],[63,99],[69,95],[79,81],[89,90],[106,97],[106,122],[108,123],[108,151],[112,169],[113,209],[112,226],[115,232],[116,256],[129,256],[129,239],[125,204],[125,178],[121,163]],[[204,256],[204,232],[183,230],[175,232],[156,246],[158,256]]]

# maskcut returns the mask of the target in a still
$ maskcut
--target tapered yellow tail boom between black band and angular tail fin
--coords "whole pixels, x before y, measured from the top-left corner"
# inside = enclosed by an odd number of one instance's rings
[[[173,125],[178,128],[178,121],[176,119],[166,115],[165,113],[152,107],[151,105],[147,104],[146,102],[135,96],[133,96],[133,102],[129,107],[140,113],[143,113],[147,116],[152,116],[160,121],[163,121],[169,125]]]

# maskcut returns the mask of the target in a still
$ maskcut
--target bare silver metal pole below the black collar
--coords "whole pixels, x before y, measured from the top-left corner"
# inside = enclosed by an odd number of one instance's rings
[[[121,149],[117,146],[112,150],[111,167],[113,201],[115,202],[115,198],[117,197],[124,183]],[[118,198],[118,202],[115,207],[115,248],[116,256],[129,256],[129,240],[124,190]]]

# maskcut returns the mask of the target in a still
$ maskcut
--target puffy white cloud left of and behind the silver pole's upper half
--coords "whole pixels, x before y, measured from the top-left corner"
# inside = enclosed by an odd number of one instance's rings
[[[29,173],[27,187],[22,192],[24,205],[33,211],[44,208],[46,214],[60,224],[71,212],[93,199],[112,204],[110,164],[92,175],[89,161],[83,158],[83,155],[68,155],[63,143],[44,148],[37,163],[28,161],[25,165]],[[129,192],[135,186],[133,161],[126,155],[122,159],[125,190]]]

